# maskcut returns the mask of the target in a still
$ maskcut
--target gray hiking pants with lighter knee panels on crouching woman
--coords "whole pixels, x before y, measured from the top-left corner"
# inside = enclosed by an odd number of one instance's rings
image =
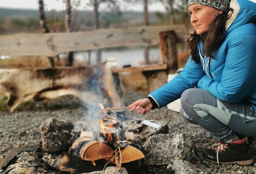
[[[256,111],[243,103],[228,103],[204,89],[182,93],[183,118],[201,125],[217,140],[230,143],[239,135],[256,136]]]

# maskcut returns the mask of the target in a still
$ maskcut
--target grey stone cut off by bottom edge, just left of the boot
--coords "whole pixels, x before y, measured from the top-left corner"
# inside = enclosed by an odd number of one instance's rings
[[[175,173],[178,174],[188,174],[188,173],[197,173],[197,174],[204,174],[204,171],[198,169],[192,163],[185,161],[185,160],[173,160],[173,164],[169,164],[167,169],[172,169]]]

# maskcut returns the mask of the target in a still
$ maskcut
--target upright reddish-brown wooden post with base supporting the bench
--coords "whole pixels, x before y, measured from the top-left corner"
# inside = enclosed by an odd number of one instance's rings
[[[149,92],[152,92],[167,83],[168,74],[175,73],[178,69],[176,36],[174,31],[160,32],[163,64],[167,64],[167,70],[143,72],[147,78]]]

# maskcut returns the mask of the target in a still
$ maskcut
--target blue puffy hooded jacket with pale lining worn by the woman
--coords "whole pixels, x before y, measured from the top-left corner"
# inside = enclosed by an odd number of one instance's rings
[[[234,9],[226,22],[223,43],[214,52],[215,59],[204,57],[198,44],[201,64],[191,56],[185,68],[168,84],[149,94],[158,108],[180,98],[186,89],[208,90],[220,100],[256,104],[256,0],[231,0]],[[252,105],[254,109],[256,106]]]

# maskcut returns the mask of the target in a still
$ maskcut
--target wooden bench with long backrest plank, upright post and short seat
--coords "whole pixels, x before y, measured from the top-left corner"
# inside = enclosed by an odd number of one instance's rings
[[[17,34],[0,36],[0,55],[55,56],[66,51],[116,46],[150,46],[160,43],[162,62],[159,65],[112,69],[112,73],[143,72],[151,92],[166,84],[167,75],[177,70],[176,43],[184,43],[185,35],[186,29],[183,25],[72,33]]]

